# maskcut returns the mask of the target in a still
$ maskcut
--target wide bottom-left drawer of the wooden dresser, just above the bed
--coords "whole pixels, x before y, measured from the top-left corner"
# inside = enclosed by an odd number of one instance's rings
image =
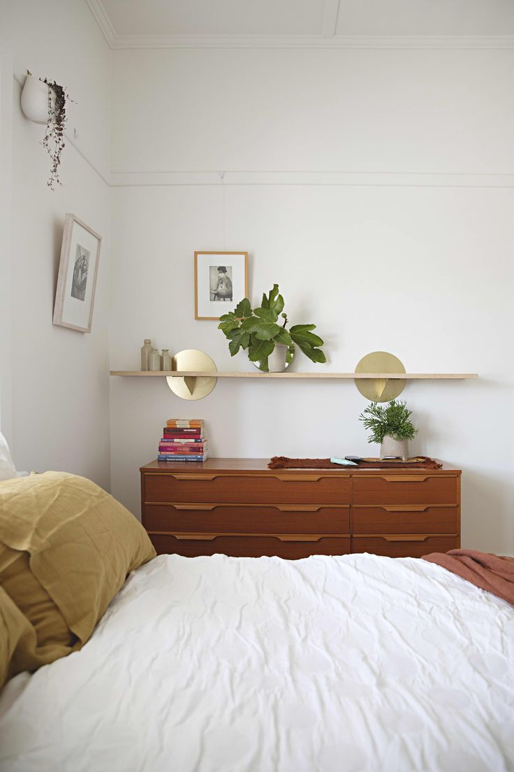
[[[252,537],[245,535],[213,536],[202,538],[198,534],[189,534],[190,538],[180,538],[170,534],[150,533],[157,554],[178,554],[185,557],[198,555],[223,554],[230,557],[261,557],[262,555],[283,557],[297,560],[310,555],[346,555],[350,553],[349,537],[323,537],[315,541],[287,541],[284,537]]]

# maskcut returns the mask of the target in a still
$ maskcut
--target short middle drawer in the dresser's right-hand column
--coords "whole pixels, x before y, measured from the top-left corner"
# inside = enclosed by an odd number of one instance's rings
[[[456,506],[391,504],[353,506],[353,532],[364,533],[459,533]]]

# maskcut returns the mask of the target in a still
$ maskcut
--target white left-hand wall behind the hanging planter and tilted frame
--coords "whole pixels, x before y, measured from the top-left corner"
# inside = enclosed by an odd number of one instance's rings
[[[110,51],[86,2],[0,3],[13,59],[11,442],[18,469],[66,469],[109,487]],[[63,187],[46,185],[44,127],[19,107],[26,69],[67,86],[76,105],[62,154]],[[95,171],[99,170],[99,171]],[[101,176],[102,175],[102,176]],[[102,234],[92,334],[53,327],[62,226],[74,212]]]

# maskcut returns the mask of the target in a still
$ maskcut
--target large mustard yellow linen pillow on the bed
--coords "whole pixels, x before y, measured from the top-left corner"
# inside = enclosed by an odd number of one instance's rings
[[[0,482],[0,584],[35,634],[17,670],[81,648],[126,575],[155,554],[136,518],[90,480]]]

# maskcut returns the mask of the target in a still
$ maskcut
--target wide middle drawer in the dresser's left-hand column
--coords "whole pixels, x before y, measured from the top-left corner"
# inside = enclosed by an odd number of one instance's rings
[[[350,534],[350,507],[316,504],[233,505],[150,504],[144,507],[146,530],[189,533],[341,533]]]

